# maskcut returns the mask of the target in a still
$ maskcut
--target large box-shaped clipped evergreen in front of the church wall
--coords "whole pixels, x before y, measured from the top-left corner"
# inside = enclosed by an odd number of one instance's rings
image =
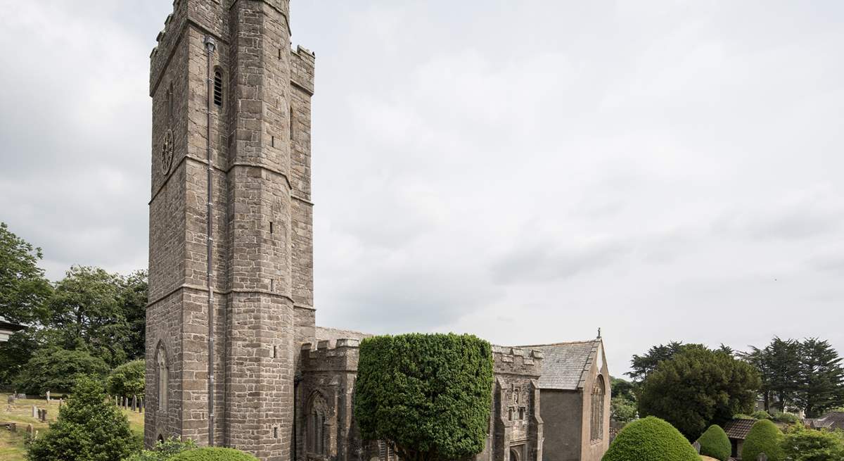
[[[366,440],[389,440],[406,461],[484,449],[492,404],[490,343],[473,335],[403,334],[360,343],[354,416]]]

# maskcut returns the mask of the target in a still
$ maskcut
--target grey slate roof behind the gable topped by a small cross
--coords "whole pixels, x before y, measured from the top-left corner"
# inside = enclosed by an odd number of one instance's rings
[[[533,344],[515,346],[523,349],[541,350],[542,376],[540,389],[576,390],[583,387],[586,372],[598,353],[601,339],[573,341],[570,343]]]

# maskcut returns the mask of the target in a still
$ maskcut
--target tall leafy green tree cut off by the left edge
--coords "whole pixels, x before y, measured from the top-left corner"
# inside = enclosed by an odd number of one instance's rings
[[[33,247],[0,222],[0,317],[37,323],[45,316],[50,283],[38,267],[41,248]]]

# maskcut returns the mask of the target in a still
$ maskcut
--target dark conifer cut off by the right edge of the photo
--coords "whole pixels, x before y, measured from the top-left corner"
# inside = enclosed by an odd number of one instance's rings
[[[814,418],[826,409],[844,404],[844,368],[828,341],[816,338],[799,344],[799,386],[796,404]]]

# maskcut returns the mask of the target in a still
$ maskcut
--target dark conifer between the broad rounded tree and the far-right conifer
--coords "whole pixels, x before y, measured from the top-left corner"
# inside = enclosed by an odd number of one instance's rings
[[[750,346],[750,352],[742,356],[760,372],[760,392],[765,399],[766,411],[771,411],[774,396],[778,399],[780,411],[785,411],[788,405],[794,403],[800,375],[798,341],[775,336],[765,348]]]

